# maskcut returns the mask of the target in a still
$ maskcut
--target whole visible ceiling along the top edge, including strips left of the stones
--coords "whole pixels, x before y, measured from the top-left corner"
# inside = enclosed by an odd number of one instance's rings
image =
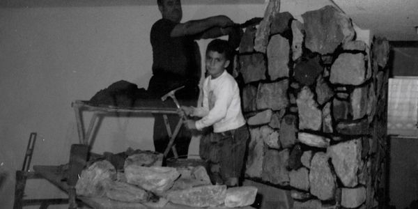
[[[270,0],[182,0],[183,4],[264,4]],[[155,0],[0,0],[0,7],[153,5]],[[326,3],[328,2],[328,3]],[[392,41],[418,41],[418,0],[281,0],[298,10],[333,3],[362,29]]]

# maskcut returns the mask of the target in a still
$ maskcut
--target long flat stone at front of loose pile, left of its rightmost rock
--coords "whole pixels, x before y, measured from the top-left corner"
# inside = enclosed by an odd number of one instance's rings
[[[191,207],[216,207],[224,203],[226,185],[208,185],[167,192],[172,203]]]

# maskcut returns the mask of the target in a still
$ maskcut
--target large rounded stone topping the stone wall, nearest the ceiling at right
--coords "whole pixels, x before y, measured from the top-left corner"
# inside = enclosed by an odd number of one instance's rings
[[[302,14],[306,31],[305,46],[320,54],[333,53],[341,43],[353,40],[355,31],[350,17],[333,6]]]

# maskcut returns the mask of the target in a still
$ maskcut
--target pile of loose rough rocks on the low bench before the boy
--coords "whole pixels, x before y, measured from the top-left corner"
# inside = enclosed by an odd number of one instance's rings
[[[124,169],[116,170],[107,160],[84,169],[75,186],[78,196],[101,197],[130,203],[164,207],[175,203],[191,207],[235,208],[254,203],[256,187],[226,188],[212,185],[206,169],[162,167],[158,156],[139,153],[126,158]],[[155,199],[157,198],[157,200]]]

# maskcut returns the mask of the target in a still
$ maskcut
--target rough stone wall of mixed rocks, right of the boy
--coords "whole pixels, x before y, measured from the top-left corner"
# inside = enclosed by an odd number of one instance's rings
[[[373,208],[384,188],[388,41],[362,41],[332,6],[278,13],[240,44],[246,178],[291,191],[294,208]]]

